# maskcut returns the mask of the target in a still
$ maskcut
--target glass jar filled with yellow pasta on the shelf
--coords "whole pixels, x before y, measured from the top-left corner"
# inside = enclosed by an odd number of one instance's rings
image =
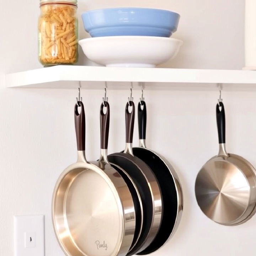
[[[40,0],[38,56],[44,66],[78,59],[77,0]]]

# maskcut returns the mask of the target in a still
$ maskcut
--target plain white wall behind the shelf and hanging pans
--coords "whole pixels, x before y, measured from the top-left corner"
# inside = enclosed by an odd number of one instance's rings
[[[178,68],[241,69],[244,65],[244,1],[130,0],[130,6],[166,8],[181,14],[174,37],[185,43]],[[53,234],[51,196],[60,172],[76,161],[73,108],[76,90],[6,89],[5,73],[40,68],[37,61],[39,1],[3,1],[0,16],[0,255],[13,254],[13,215],[46,216],[46,256],[63,256]],[[79,1],[79,13],[126,6],[127,1]],[[80,19],[80,15],[79,15]],[[81,22],[81,19],[79,20]],[[86,33],[80,27],[80,37]],[[80,63],[88,63],[80,58]],[[111,106],[109,152],[124,147],[127,91],[108,90]],[[99,154],[101,90],[83,90],[86,155]],[[134,92],[138,102],[140,92]],[[194,197],[198,170],[217,153],[215,104],[218,91],[145,91],[148,146],[176,168],[183,187],[184,212],[174,238],[154,255],[253,255],[256,216],[226,227],[207,219]],[[256,166],[256,92],[224,91],[227,148]],[[137,144],[137,128],[134,144]]]

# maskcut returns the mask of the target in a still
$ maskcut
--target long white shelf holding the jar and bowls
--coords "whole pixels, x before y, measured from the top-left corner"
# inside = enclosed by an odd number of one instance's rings
[[[86,89],[103,88],[105,82],[113,89],[127,89],[130,82],[134,82],[134,89],[140,88],[139,82],[151,89],[216,88],[218,83],[256,84],[256,71],[59,65],[6,75],[6,87],[15,88],[69,89],[77,88],[79,82]]]

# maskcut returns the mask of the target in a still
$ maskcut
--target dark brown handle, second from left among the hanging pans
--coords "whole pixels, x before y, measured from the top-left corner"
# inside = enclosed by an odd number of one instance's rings
[[[107,101],[101,104],[100,107],[100,129],[101,129],[101,149],[107,149],[108,147],[108,134],[110,124],[110,106]],[[103,108],[106,107],[106,114],[103,112]]]

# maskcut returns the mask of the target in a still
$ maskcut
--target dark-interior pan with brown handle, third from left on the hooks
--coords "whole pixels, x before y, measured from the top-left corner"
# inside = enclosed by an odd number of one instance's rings
[[[128,107],[132,107],[129,112]],[[135,106],[133,101],[126,104],[126,149],[124,153],[114,153],[108,160],[124,169],[133,179],[142,198],[143,223],[142,233],[128,256],[145,250],[154,240],[162,218],[162,199],[158,181],[152,170],[141,159],[133,155],[132,140]]]

